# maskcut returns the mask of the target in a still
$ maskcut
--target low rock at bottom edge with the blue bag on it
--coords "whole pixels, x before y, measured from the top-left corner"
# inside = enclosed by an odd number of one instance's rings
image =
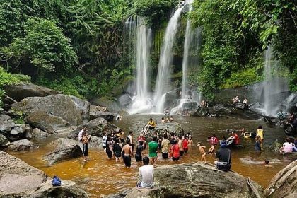
[[[88,198],[88,194],[81,187],[69,180],[62,180],[62,185],[53,187],[52,180],[43,182],[33,190],[27,192],[22,198],[39,198],[39,197],[81,197]]]

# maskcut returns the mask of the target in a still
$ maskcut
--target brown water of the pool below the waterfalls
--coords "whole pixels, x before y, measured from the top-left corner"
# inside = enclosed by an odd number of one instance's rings
[[[126,115],[120,122],[114,122],[118,127],[128,134],[129,130],[139,132],[152,116],[157,123],[160,122],[163,115]],[[226,129],[245,129],[248,132],[255,131],[257,126],[262,125],[264,128],[264,151],[256,153],[254,150],[255,140],[241,138],[241,144],[245,148],[232,150],[232,170],[250,177],[255,182],[258,182],[262,187],[267,187],[269,181],[282,168],[295,160],[296,156],[283,156],[279,153],[269,151],[269,146],[273,141],[278,139],[283,142],[286,138],[284,132],[280,127],[269,127],[260,120],[240,120],[236,118],[212,118],[212,117],[182,117],[174,116],[175,122],[182,124],[185,133],[190,132],[193,136],[194,144],[201,141],[202,145],[209,148],[209,143],[206,141],[207,136],[216,134],[221,139],[223,135],[229,136]],[[137,133],[136,133],[137,134]],[[51,150],[45,145],[59,138],[62,135],[51,136],[44,141],[37,141],[41,146],[34,151],[25,152],[10,152],[13,156],[21,158],[26,163],[33,165],[40,170],[45,171],[50,177],[57,175],[62,180],[73,180],[78,185],[81,185],[90,195],[90,197],[100,197],[103,194],[116,193],[127,187],[134,187],[136,185],[136,178],[138,175],[138,168],[141,163],[136,163],[132,159],[132,167],[124,168],[124,163],[115,160],[108,160],[106,153],[102,148],[91,149],[89,151],[89,161],[83,163],[82,158],[64,161],[52,166],[47,166],[42,161],[42,156]],[[218,148],[218,147],[216,147]],[[134,148],[135,149],[135,148]],[[144,151],[144,155],[147,154]],[[262,161],[268,159],[273,167],[264,167]],[[200,154],[196,146],[189,149],[187,155],[182,156],[178,163],[194,163],[200,160]],[[214,156],[206,156],[206,161],[214,162]],[[171,160],[163,161],[161,155],[157,162],[157,166],[174,164]]]

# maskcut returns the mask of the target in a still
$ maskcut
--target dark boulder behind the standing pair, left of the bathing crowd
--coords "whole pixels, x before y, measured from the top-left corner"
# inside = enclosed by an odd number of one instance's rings
[[[70,134],[67,136],[71,139],[77,139],[78,133],[81,131],[82,127],[88,128],[88,134],[91,136],[98,136],[102,137],[105,132],[111,133],[112,131],[117,130],[117,126],[114,124],[110,124],[107,122],[107,120],[103,119],[102,117],[98,117],[97,119],[91,120],[87,122],[86,124],[81,124],[77,127],[76,130],[70,132]]]

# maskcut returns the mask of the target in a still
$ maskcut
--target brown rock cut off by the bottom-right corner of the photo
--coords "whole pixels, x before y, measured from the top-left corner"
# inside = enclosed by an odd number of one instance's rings
[[[277,173],[264,191],[264,197],[297,197],[297,160]]]

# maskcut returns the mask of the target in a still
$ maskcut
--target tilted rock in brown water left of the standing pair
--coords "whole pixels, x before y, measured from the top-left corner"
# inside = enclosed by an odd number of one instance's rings
[[[68,146],[66,148],[59,148],[56,151],[46,153],[43,158],[45,159],[45,161],[47,161],[49,165],[52,165],[59,161],[79,158],[82,156],[82,153],[83,151],[81,150],[81,147],[76,144]]]

